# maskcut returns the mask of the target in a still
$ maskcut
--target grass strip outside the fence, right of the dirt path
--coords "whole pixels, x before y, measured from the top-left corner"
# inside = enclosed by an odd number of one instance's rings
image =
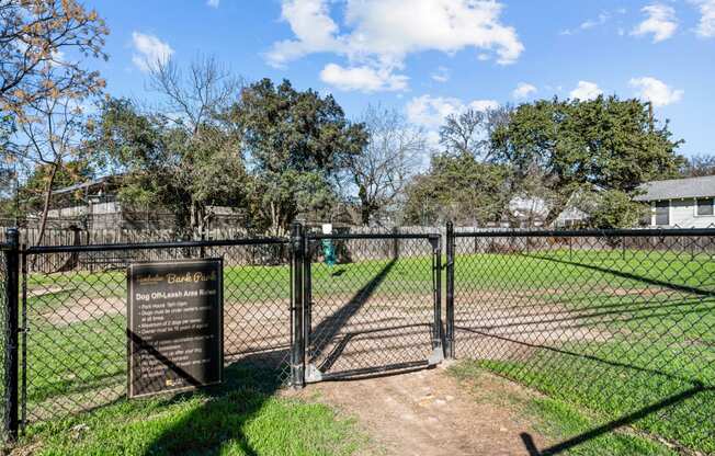
[[[463,384],[472,384],[475,396],[479,394],[479,379],[485,371],[475,362],[461,362],[451,366],[450,375]],[[508,407],[513,413],[525,419],[534,431],[548,438],[554,446],[564,445],[565,455],[579,456],[629,456],[629,455],[676,455],[668,447],[647,437],[635,435],[626,430],[608,430],[597,433],[599,421],[587,411],[580,410],[563,400],[549,397],[536,397],[529,394],[510,392],[504,397],[487,398],[501,407]],[[484,397],[477,397],[484,401]],[[531,434],[529,434],[531,436]],[[523,437],[522,437],[523,438]],[[549,448],[536,448],[545,452]]]

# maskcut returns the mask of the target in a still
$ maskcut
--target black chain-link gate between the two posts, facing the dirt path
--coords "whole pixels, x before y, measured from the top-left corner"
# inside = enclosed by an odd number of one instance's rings
[[[442,361],[439,235],[317,235],[306,251],[306,383]]]

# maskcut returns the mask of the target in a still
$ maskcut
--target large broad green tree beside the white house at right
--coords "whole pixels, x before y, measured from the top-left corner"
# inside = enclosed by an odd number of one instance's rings
[[[682,141],[668,122],[654,125],[648,104],[599,96],[522,104],[491,135],[495,160],[513,170],[511,191],[534,172],[553,195],[545,224],[558,217],[579,190],[635,192],[639,184],[677,175]]]

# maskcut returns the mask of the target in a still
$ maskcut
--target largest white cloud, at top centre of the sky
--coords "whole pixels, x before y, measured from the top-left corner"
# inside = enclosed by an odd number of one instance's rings
[[[337,15],[341,25],[331,18],[331,5],[344,8]],[[283,0],[281,16],[295,36],[274,43],[265,57],[282,67],[330,53],[347,58],[351,68],[390,77],[399,77],[393,72],[404,68],[409,54],[424,50],[454,54],[473,47],[480,58],[512,64],[524,46],[515,30],[501,23],[502,8],[496,0],[410,0],[409,8],[404,0]]]

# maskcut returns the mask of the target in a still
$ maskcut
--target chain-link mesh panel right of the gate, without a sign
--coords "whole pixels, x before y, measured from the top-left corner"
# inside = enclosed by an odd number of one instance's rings
[[[455,238],[456,357],[715,453],[715,236]]]

